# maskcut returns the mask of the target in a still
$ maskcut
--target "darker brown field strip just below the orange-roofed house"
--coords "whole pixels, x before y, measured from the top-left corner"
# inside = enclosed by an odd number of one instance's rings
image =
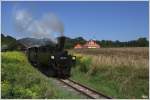
[[[72,52],[88,54],[88,55],[134,55],[137,57],[148,58],[148,47],[133,47],[133,48],[100,48],[100,49],[74,49]]]

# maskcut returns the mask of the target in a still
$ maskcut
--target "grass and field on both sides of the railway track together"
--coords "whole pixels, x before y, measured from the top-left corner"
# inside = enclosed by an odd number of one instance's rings
[[[71,50],[72,79],[114,98],[149,98],[148,48]],[[2,98],[80,98],[61,90],[32,67],[21,52],[3,52]]]

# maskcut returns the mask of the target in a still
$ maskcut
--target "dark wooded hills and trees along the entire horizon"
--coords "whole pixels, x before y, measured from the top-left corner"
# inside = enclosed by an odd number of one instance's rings
[[[65,42],[65,49],[72,49],[76,44],[85,44],[87,40],[85,40],[83,37],[77,37],[77,38],[69,38],[66,37]],[[23,43],[23,44],[22,44]],[[2,49],[7,50],[18,50],[19,47],[25,46],[24,44],[30,43],[30,45],[41,45],[41,44],[49,44],[50,40],[48,39],[34,39],[34,38],[23,38],[16,40],[12,36],[5,36],[4,34],[1,34],[1,46]],[[137,40],[131,40],[126,42],[121,42],[119,40],[111,41],[111,40],[96,40],[96,43],[99,44],[101,47],[107,48],[107,47],[148,47],[149,41],[146,37],[140,37]]]

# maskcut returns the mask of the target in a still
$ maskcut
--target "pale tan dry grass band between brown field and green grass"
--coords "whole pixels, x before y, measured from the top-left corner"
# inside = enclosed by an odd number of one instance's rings
[[[131,66],[131,67],[147,67],[148,68],[148,59],[137,58],[135,56],[105,56],[97,55],[91,56],[92,62],[95,65],[108,65],[108,66]]]

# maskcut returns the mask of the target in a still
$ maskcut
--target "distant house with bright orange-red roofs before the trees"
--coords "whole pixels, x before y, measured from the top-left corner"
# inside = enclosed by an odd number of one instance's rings
[[[96,43],[94,40],[90,40],[87,43],[85,43],[83,46],[80,44],[75,45],[74,49],[80,49],[80,48],[100,48],[100,45]]]

